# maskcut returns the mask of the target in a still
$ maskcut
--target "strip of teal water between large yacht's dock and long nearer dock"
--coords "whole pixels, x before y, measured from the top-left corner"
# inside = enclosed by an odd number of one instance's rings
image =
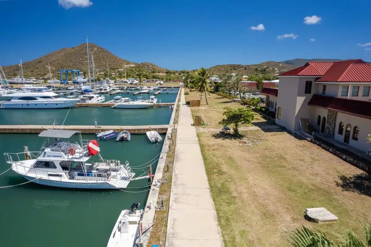
[[[58,125],[69,109],[0,109],[0,125]],[[168,124],[172,108],[115,109],[110,107],[71,108],[64,125],[159,125]]]

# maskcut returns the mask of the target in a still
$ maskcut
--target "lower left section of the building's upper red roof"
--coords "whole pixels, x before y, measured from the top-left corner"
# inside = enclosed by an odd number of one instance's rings
[[[304,66],[284,72],[278,76],[322,76],[333,62],[307,62]]]

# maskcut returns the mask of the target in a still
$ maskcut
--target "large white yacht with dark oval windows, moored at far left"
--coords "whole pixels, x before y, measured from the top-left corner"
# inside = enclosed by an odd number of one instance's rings
[[[70,108],[79,101],[79,99],[62,98],[42,86],[23,87],[21,92],[4,94],[3,97],[11,99],[1,101],[0,108],[10,109]]]

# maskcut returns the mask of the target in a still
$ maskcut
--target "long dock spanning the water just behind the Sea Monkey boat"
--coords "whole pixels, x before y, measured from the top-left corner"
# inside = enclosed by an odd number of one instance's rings
[[[97,126],[93,125],[55,125],[54,129],[68,129],[81,131],[83,134],[95,134],[109,130],[127,130],[130,134],[144,134],[147,131],[157,131],[158,133],[166,133],[169,125],[137,125],[137,126]],[[45,129],[51,129],[52,125],[0,125],[0,133],[40,133]]]

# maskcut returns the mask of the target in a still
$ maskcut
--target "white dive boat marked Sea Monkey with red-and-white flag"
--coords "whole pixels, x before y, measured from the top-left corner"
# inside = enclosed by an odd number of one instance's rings
[[[69,141],[73,135],[78,136]],[[48,129],[39,134],[45,141],[37,152],[25,147],[23,152],[5,153],[5,159],[17,174],[36,184],[65,188],[116,189],[126,188],[134,178],[129,162],[103,159],[96,140],[82,140],[81,131]],[[93,156],[98,159],[86,162]],[[24,159],[23,159],[24,157]]]

